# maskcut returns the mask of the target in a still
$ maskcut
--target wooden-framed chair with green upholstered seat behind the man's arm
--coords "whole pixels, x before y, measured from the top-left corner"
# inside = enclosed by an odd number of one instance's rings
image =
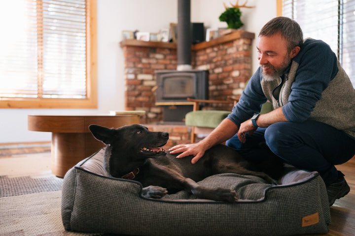
[[[195,143],[196,136],[198,134],[208,135],[210,134],[218,124],[231,113],[231,111],[215,111],[207,110],[201,111],[199,108],[200,103],[233,103],[234,105],[238,102],[238,99],[231,101],[220,101],[220,100],[201,100],[201,99],[188,99],[194,102],[193,111],[185,115],[185,125],[191,126],[191,143]],[[265,114],[272,111],[271,102],[266,102],[262,108],[260,114]]]

